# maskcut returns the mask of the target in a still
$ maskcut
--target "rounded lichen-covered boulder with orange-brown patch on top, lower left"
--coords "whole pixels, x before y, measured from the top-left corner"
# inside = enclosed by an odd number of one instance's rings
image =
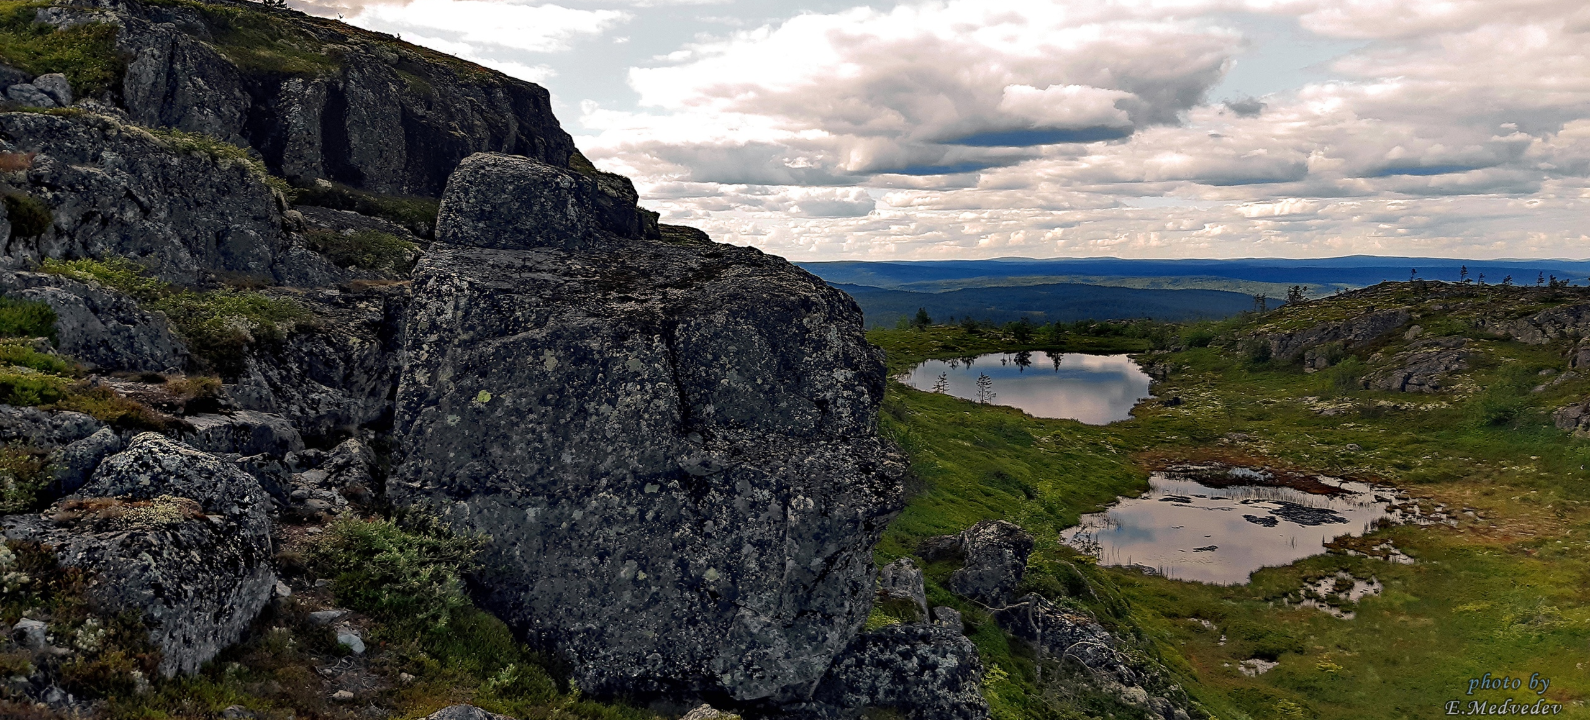
[[[8,539],[52,545],[62,566],[87,571],[97,610],[137,610],[170,677],[235,642],[270,599],[266,505],[237,467],[145,432],[43,517],[3,525]]]

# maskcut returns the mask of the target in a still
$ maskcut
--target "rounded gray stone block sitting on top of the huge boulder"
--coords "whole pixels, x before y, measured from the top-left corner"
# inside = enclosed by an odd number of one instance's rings
[[[615,203],[595,180],[528,157],[480,153],[447,184],[436,235],[494,250],[609,248],[609,235],[639,238],[633,202]]]

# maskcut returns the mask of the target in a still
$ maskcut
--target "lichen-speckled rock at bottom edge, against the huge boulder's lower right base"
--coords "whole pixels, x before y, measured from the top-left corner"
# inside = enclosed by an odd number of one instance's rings
[[[979,720],[983,661],[959,629],[890,625],[863,633],[835,660],[806,714],[859,717],[890,709],[911,720]]]

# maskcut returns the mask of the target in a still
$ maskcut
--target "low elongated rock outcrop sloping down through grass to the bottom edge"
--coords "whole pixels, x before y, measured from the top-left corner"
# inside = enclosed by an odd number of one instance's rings
[[[1084,682],[1096,683],[1116,699],[1153,712],[1164,720],[1188,720],[1186,693],[1165,683],[1156,671],[1121,652],[1119,641],[1097,620],[1056,606],[1040,594],[1027,594],[994,610],[994,621],[1013,637],[1032,645],[1041,658],[1086,669]]]

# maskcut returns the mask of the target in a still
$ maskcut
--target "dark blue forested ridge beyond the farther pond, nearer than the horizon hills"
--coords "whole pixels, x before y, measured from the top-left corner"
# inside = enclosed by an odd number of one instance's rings
[[[1078,319],[1153,318],[1167,321],[1227,318],[1253,308],[1253,297],[1213,289],[1137,289],[1099,285],[1030,285],[967,288],[949,292],[909,292],[862,285],[841,285],[867,315],[868,327],[890,327],[902,316],[927,310],[935,323],[951,318],[1010,323],[1022,316],[1034,323]],[[1272,300],[1270,307],[1278,305]]]

